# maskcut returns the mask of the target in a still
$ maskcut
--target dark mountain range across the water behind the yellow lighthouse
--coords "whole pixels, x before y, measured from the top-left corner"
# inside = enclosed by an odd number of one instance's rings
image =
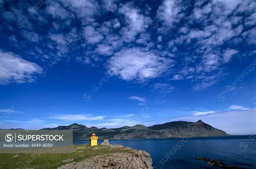
[[[129,140],[129,139],[152,139],[152,138],[182,138],[182,137],[210,137],[231,136],[226,132],[214,128],[202,122],[174,121],[146,127],[141,124],[135,126],[124,126],[120,128],[97,128],[86,127],[81,124],[69,126],[58,126],[56,128],[43,128],[42,130],[73,130],[73,140],[89,139],[94,132],[99,139]]]

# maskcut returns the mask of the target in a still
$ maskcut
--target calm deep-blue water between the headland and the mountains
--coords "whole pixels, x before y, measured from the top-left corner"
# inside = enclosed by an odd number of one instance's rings
[[[256,169],[256,138],[254,140],[252,136],[250,138],[249,136],[232,136],[188,138],[188,140],[173,138],[110,142],[149,152],[155,169],[220,168],[195,160],[195,157],[220,160],[228,165]],[[98,144],[101,142],[103,140],[98,140]],[[73,144],[89,144],[89,140],[74,141]]]

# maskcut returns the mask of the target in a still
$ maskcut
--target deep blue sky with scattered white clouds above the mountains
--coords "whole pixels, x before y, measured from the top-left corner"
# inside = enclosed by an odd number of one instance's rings
[[[256,131],[255,1],[0,0],[0,12],[0,128]]]

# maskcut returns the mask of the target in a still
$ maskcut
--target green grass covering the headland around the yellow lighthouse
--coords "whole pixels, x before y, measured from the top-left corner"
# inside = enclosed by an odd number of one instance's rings
[[[98,147],[100,149],[93,148]],[[124,148],[107,148],[106,146],[89,146],[78,145],[73,146],[73,153],[67,154],[0,154],[0,169],[56,169],[61,165],[65,159],[74,159],[71,162],[79,162],[96,155],[104,155],[115,152],[128,152],[131,149]]]

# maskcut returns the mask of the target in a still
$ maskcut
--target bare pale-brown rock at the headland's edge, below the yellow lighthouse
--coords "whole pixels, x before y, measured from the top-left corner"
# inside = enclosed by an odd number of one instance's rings
[[[132,153],[97,155],[81,162],[72,162],[57,169],[153,169],[150,154],[142,150]]]

